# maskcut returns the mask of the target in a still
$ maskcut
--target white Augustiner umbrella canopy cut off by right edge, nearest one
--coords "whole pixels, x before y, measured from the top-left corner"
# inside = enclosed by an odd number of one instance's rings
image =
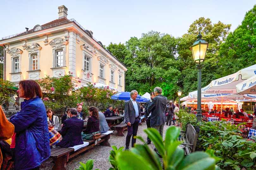
[[[256,74],[256,73],[255,73]],[[256,75],[236,85],[236,91],[239,94],[256,93]]]

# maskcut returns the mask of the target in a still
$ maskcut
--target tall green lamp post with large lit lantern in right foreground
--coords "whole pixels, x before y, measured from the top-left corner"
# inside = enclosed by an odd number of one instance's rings
[[[196,63],[198,63],[197,67],[197,122],[202,121],[202,110],[201,110],[201,75],[203,64],[201,62],[204,61],[204,57],[206,54],[206,49],[208,48],[209,43],[201,39],[202,35],[198,34],[197,40],[190,47],[192,51],[193,59]]]

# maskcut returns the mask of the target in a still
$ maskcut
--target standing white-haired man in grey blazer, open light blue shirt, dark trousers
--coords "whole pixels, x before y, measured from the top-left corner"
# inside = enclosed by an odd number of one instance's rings
[[[137,135],[140,121],[140,106],[139,102],[136,101],[137,94],[138,92],[136,90],[132,90],[130,93],[131,99],[125,102],[125,123],[127,124],[128,130],[125,141],[125,150],[129,149],[130,140],[131,147],[133,147],[136,143],[136,139],[134,139],[134,136]]]

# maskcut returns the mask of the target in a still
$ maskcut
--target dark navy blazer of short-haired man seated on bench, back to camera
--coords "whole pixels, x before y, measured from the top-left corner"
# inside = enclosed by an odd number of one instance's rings
[[[56,146],[68,148],[75,145],[83,144],[81,133],[83,130],[83,120],[78,119],[76,116],[66,119],[61,128],[60,134],[62,140]]]

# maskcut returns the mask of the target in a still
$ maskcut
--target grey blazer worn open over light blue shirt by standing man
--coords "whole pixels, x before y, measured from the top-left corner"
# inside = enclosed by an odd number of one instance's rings
[[[136,101],[136,100],[135,100]],[[139,102],[137,102],[138,105],[138,111],[139,111],[139,119],[140,119],[140,105]],[[133,124],[135,122],[135,109],[134,106],[132,104],[131,99],[125,102],[125,123],[130,122],[131,124]]]

